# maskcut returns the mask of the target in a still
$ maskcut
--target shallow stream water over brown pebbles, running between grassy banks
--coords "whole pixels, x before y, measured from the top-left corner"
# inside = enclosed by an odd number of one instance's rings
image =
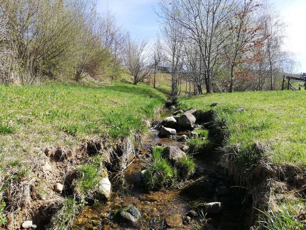
[[[172,116],[172,111],[163,109],[158,120]],[[184,146],[185,142],[177,142],[169,138],[160,138],[157,130],[150,130],[148,137],[143,143],[143,149],[137,158],[125,170],[124,177],[112,186],[111,198],[102,203],[95,203],[92,206],[85,206],[80,214],[75,218],[73,229],[196,229],[190,221],[182,221],[180,226],[167,226],[165,219],[171,216],[181,215],[184,217],[190,212],[190,205],[198,201],[193,192],[188,191],[188,185],[180,188],[164,189],[156,192],[146,192],[141,183],[141,170],[149,160],[148,149],[152,145],[162,143],[165,146]],[[186,134],[178,132],[177,137]],[[215,183],[215,192],[207,202],[218,201],[223,198],[224,208],[219,214],[206,216],[209,227],[201,229],[247,229],[246,215],[242,208],[241,196],[230,187],[230,180],[217,163],[217,159],[209,156],[195,156],[196,172],[188,181],[193,182],[200,177],[209,174]],[[185,188],[187,186],[187,188]],[[198,191],[201,191],[199,188]],[[227,192],[227,193],[226,193]],[[203,199],[202,199],[203,200]],[[206,200],[204,200],[206,201]],[[137,224],[123,224],[116,220],[115,213],[122,207],[135,206],[141,213],[140,221]],[[178,220],[180,221],[180,220]]]

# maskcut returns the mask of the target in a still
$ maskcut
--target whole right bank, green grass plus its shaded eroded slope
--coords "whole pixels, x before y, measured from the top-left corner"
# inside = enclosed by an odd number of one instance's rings
[[[306,211],[305,101],[305,91],[214,93],[180,99],[180,108],[213,111],[223,163],[237,183],[250,189],[253,201],[269,206],[265,213],[270,217],[269,229],[305,227],[296,217]]]

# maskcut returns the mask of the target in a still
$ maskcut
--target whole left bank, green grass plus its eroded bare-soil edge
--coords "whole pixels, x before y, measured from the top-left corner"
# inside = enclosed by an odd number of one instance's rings
[[[31,219],[40,229],[69,228],[98,194],[104,162],[125,167],[164,103],[144,84],[0,85],[0,228]]]

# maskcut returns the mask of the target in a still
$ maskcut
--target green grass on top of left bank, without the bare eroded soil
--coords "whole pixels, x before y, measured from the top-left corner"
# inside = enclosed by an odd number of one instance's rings
[[[143,119],[153,118],[164,100],[145,84],[0,85],[0,149],[7,158],[28,160],[37,148],[130,136],[146,129]]]

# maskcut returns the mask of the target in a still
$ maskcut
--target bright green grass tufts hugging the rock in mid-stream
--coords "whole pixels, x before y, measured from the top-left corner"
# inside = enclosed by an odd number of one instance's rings
[[[146,190],[159,190],[181,180],[188,179],[194,172],[195,163],[190,156],[170,162],[163,156],[165,147],[155,146],[150,162],[146,165],[142,181]]]

